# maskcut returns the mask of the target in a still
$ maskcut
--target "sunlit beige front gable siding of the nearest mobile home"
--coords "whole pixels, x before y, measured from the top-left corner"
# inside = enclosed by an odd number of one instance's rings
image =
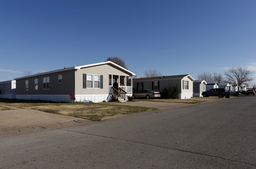
[[[103,89],[84,89],[83,74],[103,75]],[[108,64],[79,69],[75,73],[75,94],[109,94],[109,75],[129,76],[128,74]]]

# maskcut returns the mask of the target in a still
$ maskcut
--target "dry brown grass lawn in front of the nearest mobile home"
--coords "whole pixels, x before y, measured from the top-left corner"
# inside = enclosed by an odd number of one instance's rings
[[[135,107],[118,104],[101,104],[93,103],[84,104],[76,103],[54,103],[45,101],[32,100],[3,100],[0,99],[0,104],[18,107],[22,109],[36,109],[55,114],[63,114],[79,118],[85,118],[93,121],[99,121],[114,116],[122,116],[124,114],[140,113],[145,111],[155,110],[149,107]]]

